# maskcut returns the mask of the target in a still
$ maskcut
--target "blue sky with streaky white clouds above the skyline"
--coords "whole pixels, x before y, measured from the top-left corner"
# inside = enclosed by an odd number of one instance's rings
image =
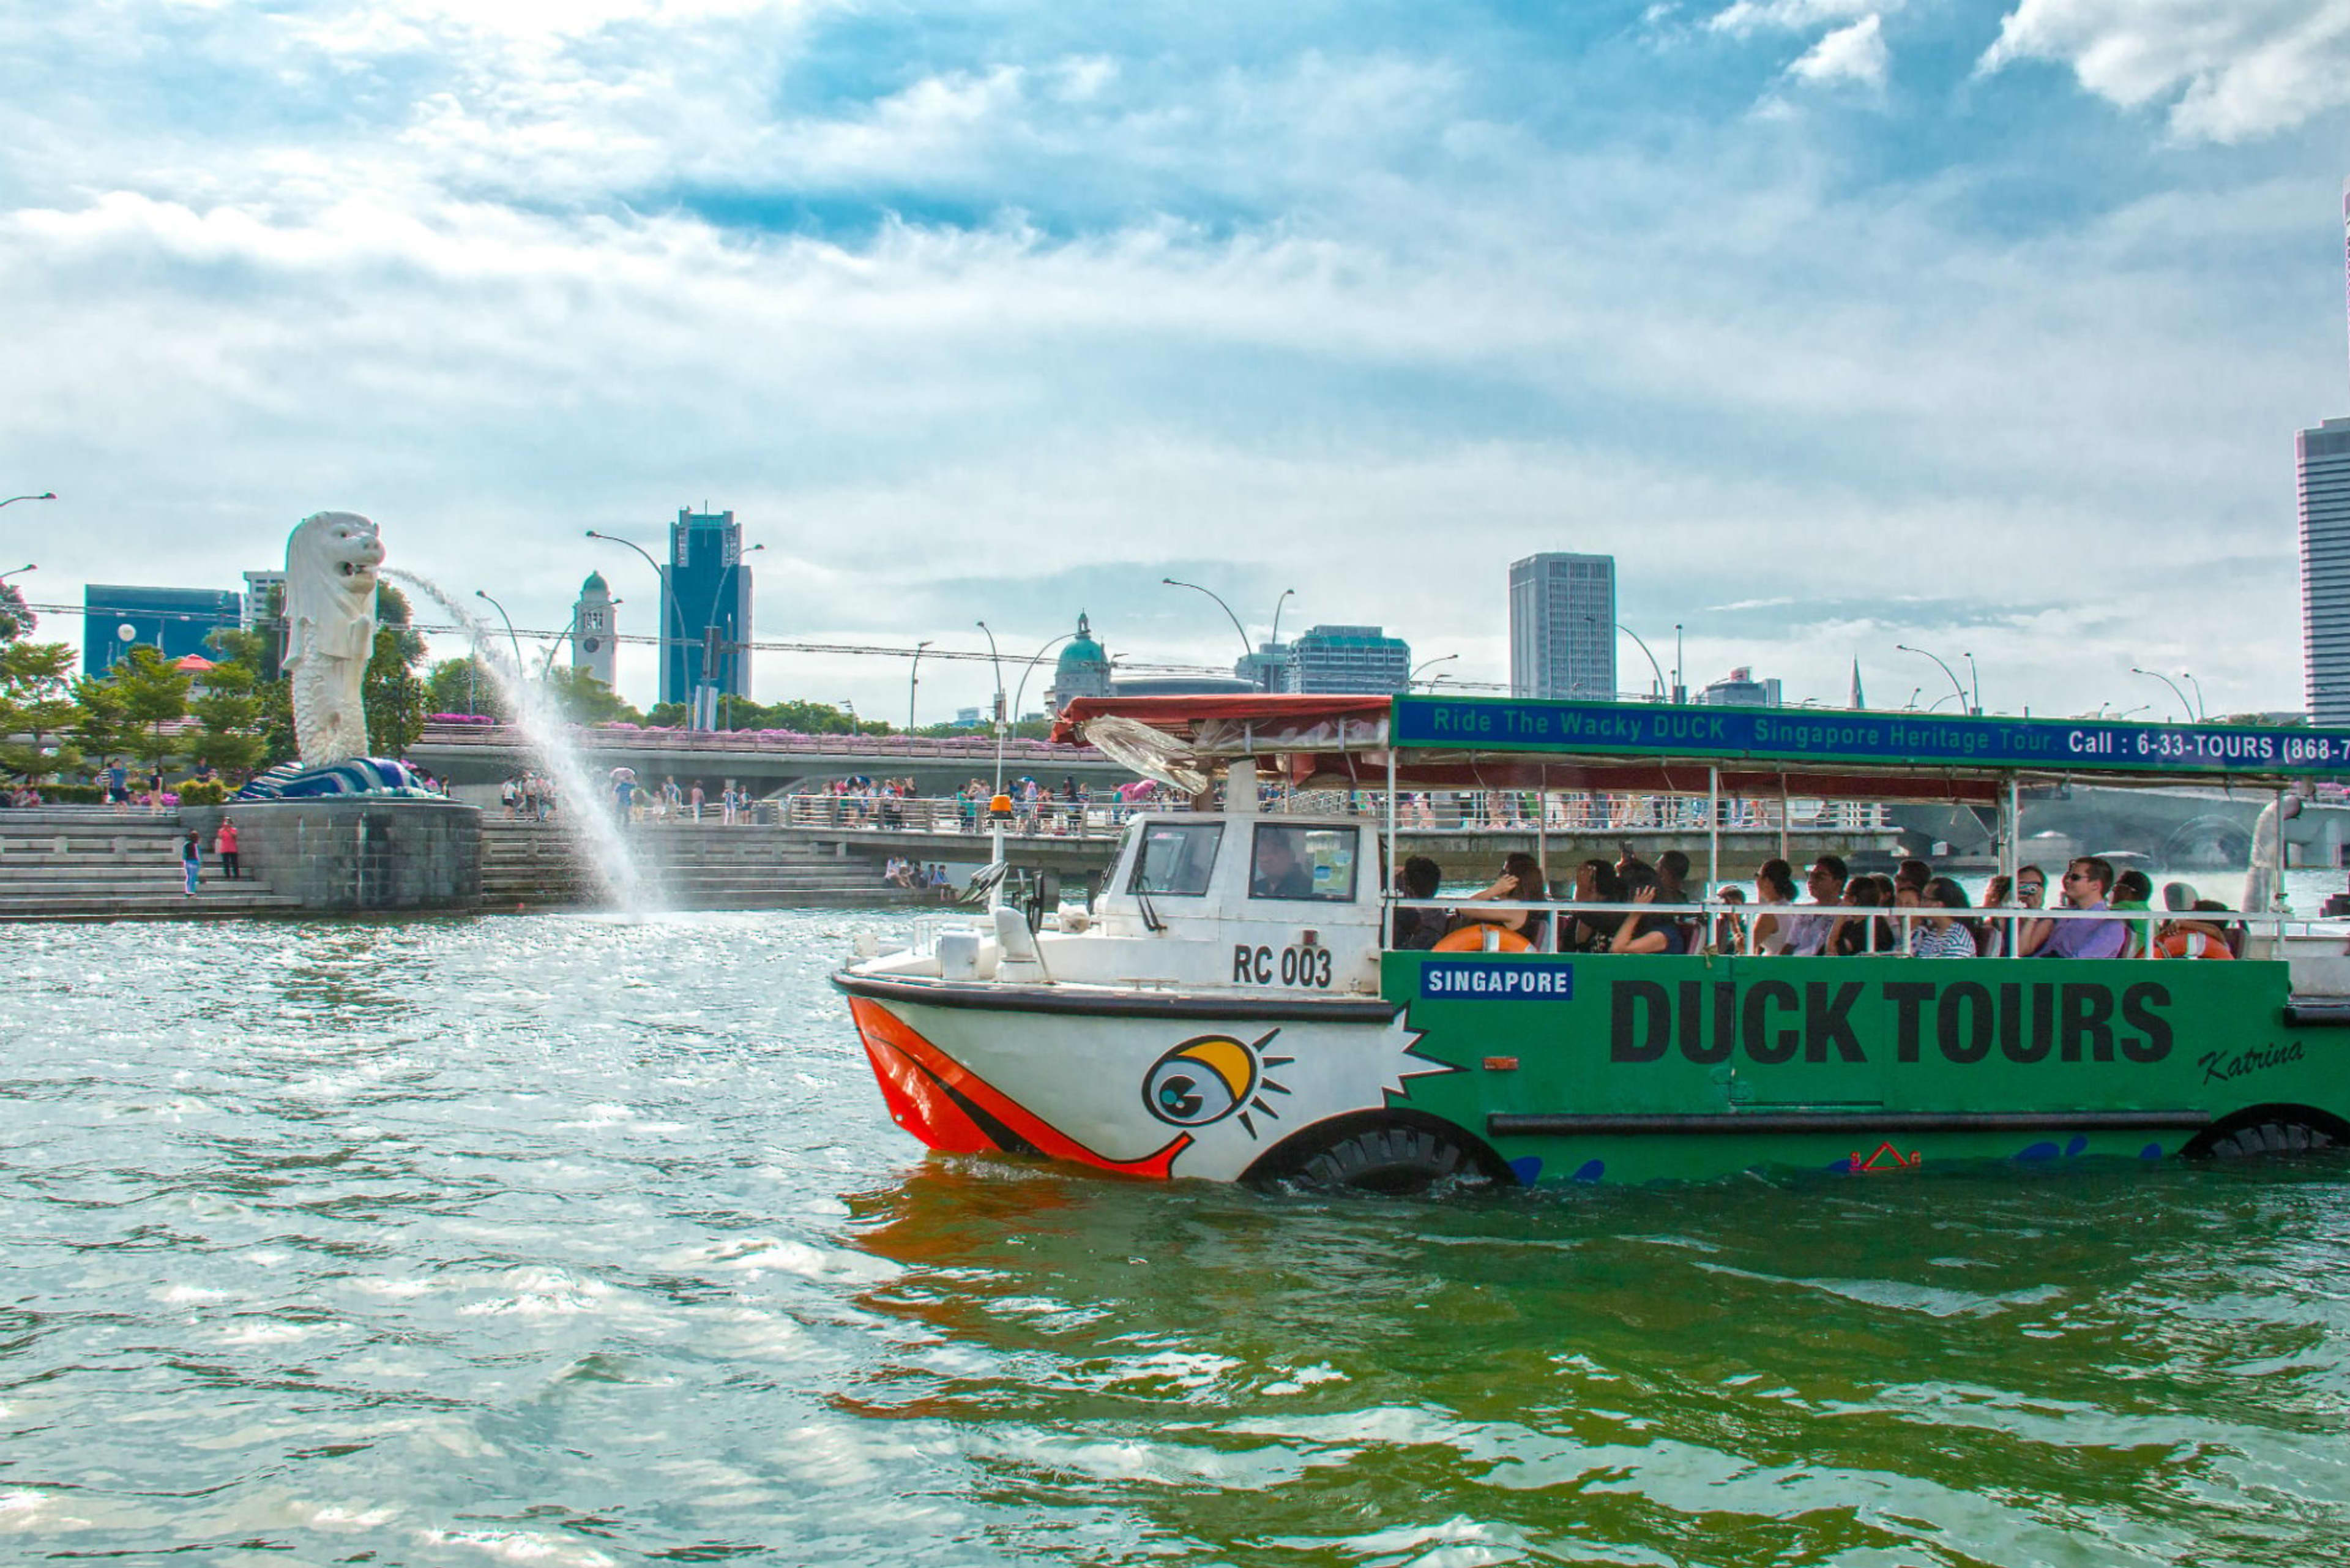
[[[1175,576],[1506,682],[1509,562],[1596,550],[1692,686],[2298,708],[2345,132],[2350,0],[0,0],[0,555],[357,510],[651,630],[583,534],[707,503],[761,637],[1229,661]]]

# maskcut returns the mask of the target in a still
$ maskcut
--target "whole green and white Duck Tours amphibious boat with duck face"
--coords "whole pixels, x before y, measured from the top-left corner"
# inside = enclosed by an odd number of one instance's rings
[[[1083,914],[994,907],[837,971],[891,1117],[933,1150],[1410,1190],[2350,1140],[2350,929],[2263,891],[2275,823],[2350,771],[2350,731],[1267,696],[1079,698],[1062,733],[1201,799],[1222,778],[1227,809],[1135,816]],[[1262,776],[1330,809],[1255,811]],[[1730,823],[1777,820],[1802,860],[1791,799],[1958,802],[1998,813],[2014,872],[2019,785],[2066,778],[2268,802],[2254,907],[2195,917],[2242,957],[2153,957],[2176,943],[2150,912],[2122,917],[2136,959],[1784,957],[1716,919]],[[1546,860],[1560,799],[1687,802],[1699,950],[1546,950],[1570,914],[1654,914],[1589,903],[1530,905],[1523,950],[1391,947],[1398,907],[1459,903],[1389,891],[1410,790],[1518,792]]]

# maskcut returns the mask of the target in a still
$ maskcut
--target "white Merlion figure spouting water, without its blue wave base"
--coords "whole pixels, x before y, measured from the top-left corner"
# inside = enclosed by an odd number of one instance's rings
[[[367,755],[360,686],[376,651],[383,541],[357,512],[315,512],[287,538],[287,677],[306,769]]]

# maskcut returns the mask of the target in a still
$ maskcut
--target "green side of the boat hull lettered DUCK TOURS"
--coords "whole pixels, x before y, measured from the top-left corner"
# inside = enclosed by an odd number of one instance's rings
[[[1382,992],[1426,1065],[1394,1107],[1528,1185],[2350,1140],[2350,1030],[2284,961],[1389,952]]]

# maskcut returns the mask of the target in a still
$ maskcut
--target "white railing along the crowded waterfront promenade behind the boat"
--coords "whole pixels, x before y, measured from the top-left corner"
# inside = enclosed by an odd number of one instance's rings
[[[881,795],[830,790],[785,795],[785,827],[870,832],[968,832],[992,827],[987,802],[968,795]],[[1010,830],[1020,835],[1116,835],[1135,811],[1187,811],[1182,799],[1015,799]],[[1264,790],[1267,813],[1361,816],[1382,820],[1386,806],[1368,790]],[[1887,832],[1887,809],[1873,802],[1788,802],[1779,797],[1720,804],[1725,832]],[[1784,818],[1784,820],[1781,820]],[[1405,795],[1396,806],[1403,832],[1704,832],[1706,802],[1690,795],[1567,795],[1535,790],[1436,790]]]

